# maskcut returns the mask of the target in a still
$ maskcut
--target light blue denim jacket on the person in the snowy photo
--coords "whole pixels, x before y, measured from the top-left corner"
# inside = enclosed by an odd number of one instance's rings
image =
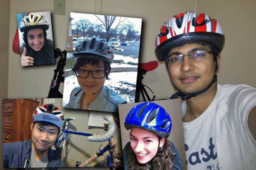
[[[81,87],[76,87],[70,94],[70,101],[65,108],[81,109],[81,102],[84,91]],[[118,105],[127,103],[119,94],[107,86],[103,86],[98,96],[87,105],[86,110],[118,112]]]

